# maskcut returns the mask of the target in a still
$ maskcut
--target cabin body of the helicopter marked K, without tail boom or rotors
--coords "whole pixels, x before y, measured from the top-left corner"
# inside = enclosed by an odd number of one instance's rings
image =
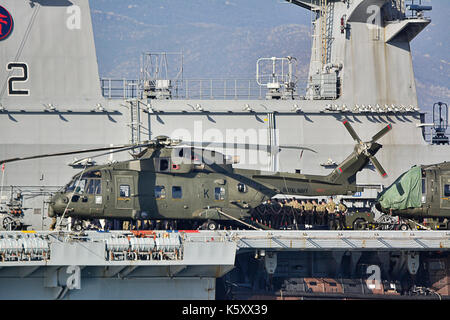
[[[142,162],[152,160],[136,160],[141,162],[140,168],[133,168],[136,161],[130,161],[129,168],[113,165],[76,175],[63,191],[54,195],[49,215],[81,219],[227,220],[220,214],[224,211],[239,219],[276,194],[234,173],[231,166],[219,172],[204,166],[186,170],[183,165],[173,165],[167,172],[143,168]]]

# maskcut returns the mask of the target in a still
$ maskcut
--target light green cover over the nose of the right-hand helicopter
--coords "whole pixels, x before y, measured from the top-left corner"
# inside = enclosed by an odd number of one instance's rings
[[[422,206],[422,169],[413,167],[381,192],[378,202],[385,209],[403,210]]]

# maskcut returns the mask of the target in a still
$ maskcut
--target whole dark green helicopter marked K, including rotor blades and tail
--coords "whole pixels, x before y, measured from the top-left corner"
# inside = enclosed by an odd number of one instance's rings
[[[382,147],[376,141],[392,126],[386,126],[371,141],[363,142],[348,120],[343,124],[356,145],[353,152],[326,176],[236,169],[232,166],[237,162],[235,158],[207,149],[215,146],[226,148],[229,147],[227,144],[183,142],[166,136],[140,145],[13,158],[0,160],[0,164],[92,151],[121,152],[142,147],[143,151],[133,154],[131,160],[85,167],[60,192],[54,194],[48,215],[82,220],[195,220],[203,222],[202,227],[209,230],[215,230],[218,222],[229,222],[256,229],[245,222],[250,217],[250,210],[277,194],[354,194],[361,191],[356,185],[356,174],[369,161],[382,176],[386,176],[386,171],[375,158]],[[261,148],[258,145],[236,144],[231,147]],[[313,151],[302,147],[284,147]]]

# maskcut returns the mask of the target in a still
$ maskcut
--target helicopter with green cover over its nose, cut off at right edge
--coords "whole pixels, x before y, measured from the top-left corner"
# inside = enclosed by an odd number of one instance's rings
[[[427,229],[450,230],[450,162],[412,167],[379,194],[375,207]]]

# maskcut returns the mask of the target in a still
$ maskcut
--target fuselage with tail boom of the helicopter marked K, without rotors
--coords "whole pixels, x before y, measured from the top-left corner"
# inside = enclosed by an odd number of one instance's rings
[[[243,219],[250,209],[277,194],[329,196],[355,191],[356,185],[334,184],[321,176],[233,169],[229,164],[174,164],[168,158],[155,158],[79,173],[53,196],[49,216]]]

